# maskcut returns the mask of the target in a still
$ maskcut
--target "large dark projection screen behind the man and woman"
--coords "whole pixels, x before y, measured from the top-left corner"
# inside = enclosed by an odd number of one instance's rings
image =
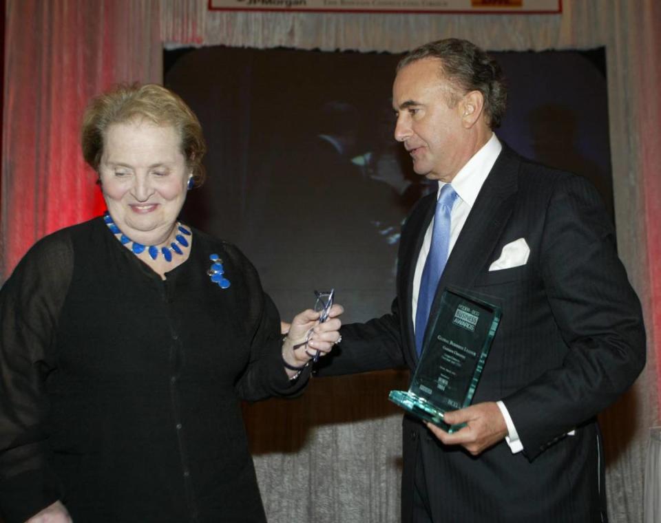
[[[612,215],[603,50],[498,52],[497,134],[594,181]],[[344,321],[388,312],[399,227],[429,190],[392,138],[400,55],[205,47],[165,52],[165,85],[196,111],[209,180],[183,219],[237,244],[282,318],[335,288]]]

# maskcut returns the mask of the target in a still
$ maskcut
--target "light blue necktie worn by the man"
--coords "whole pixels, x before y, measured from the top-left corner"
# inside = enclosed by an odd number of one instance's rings
[[[418,307],[415,312],[415,348],[418,356],[422,354],[422,341],[425,337],[427,319],[432,308],[432,301],[436,295],[439,279],[443,274],[445,262],[448,261],[450,250],[450,213],[457,193],[452,185],[445,184],[441,189],[439,201],[436,203],[434,213],[434,228],[432,230],[432,243],[429,247],[429,255],[425,262],[420,280],[420,292],[418,292]]]

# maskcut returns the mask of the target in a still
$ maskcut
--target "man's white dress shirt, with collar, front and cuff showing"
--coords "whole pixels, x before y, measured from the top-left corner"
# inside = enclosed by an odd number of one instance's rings
[[[482,189],[484,181],[487,179],[487,175],[490,173],[494,163],[496,163],[496,158],[503,150],[503,145],[496,138],[495,134],[491,135],[489,141],[482,146],[482,148],[477,151],[470,160],[461,168],[461,171],[452,180],[452,188],[454,192],[457,193],[459,198],[454,202],[452,207],[452,213],[450,213],[450,248],[448,248],[448,256],[452,253],[452,248],[454,244],[457,243],[457,238],[463,224],[465,224],[466,219],[468,218],[468,213],[473,207],[477,195]],[[437,192],[437,198],[441,193],[441,188],[445,185],[443,182],[439,182],[439,189]],[[427,256],[429,254],[429,248],[432,242],[432,229],[434,228],[434,218],[427,228],[425,233],[425,239],[422,242],[422,248],[418,255],[418,261],[415,266],[415,274],[413,276],[413,299],[412,299],[412,320],[413,328],[415,329],[415,313],[418,308],[418,294],[420,292],[420,280],[422,279],[422,271],[425,267],[425,262],[427,261]],[[505,423],[507,424],[507,445],[510,445],[510,449],[513,453],[521,452],[523,450],[523,444],[518,438],[516,432],[516,427],[514,427],[514,422],[512,422],[512,417],[510,413],[507,412],[507,407],[502,401],[496,402],[503,418],[505,418]]]

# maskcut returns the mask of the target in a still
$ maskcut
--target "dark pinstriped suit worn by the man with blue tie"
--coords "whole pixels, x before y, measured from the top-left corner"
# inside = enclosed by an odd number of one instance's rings
[[[342,329],[342,350],[320,374],[417,363],[411,296],[434,212],[422,198],[403,226],[392,312]],[[525,238],[527,264],[489,271],[506,244]],[[600,522],[603,456],[596,414],[642,370],[640,303],[616,254],[613,227],[584,178],[503,148],[439,283],[503,309],[473,403],[503,400],[524,445],[500,442],[474,458],[445,447],[419,420],[403,420],[402,520],[412,518],[422,458],[434,522]],[[576,429],[575,436],[565,436]]]

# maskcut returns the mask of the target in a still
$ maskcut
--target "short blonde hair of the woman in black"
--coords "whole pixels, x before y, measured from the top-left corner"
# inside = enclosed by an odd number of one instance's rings
[[[109,92],[92,98],[85,109],[81,128],[81,146],[85,162],[98,172],[103,156],[103,138],[115,123],[147,120],[155,125],[171,125],[181,137],[181,152],[186,158],[193,182],[200,186],[207,177],[202,157],[207,145],[198,117],[178,95],[154,83],[117,85]]]

